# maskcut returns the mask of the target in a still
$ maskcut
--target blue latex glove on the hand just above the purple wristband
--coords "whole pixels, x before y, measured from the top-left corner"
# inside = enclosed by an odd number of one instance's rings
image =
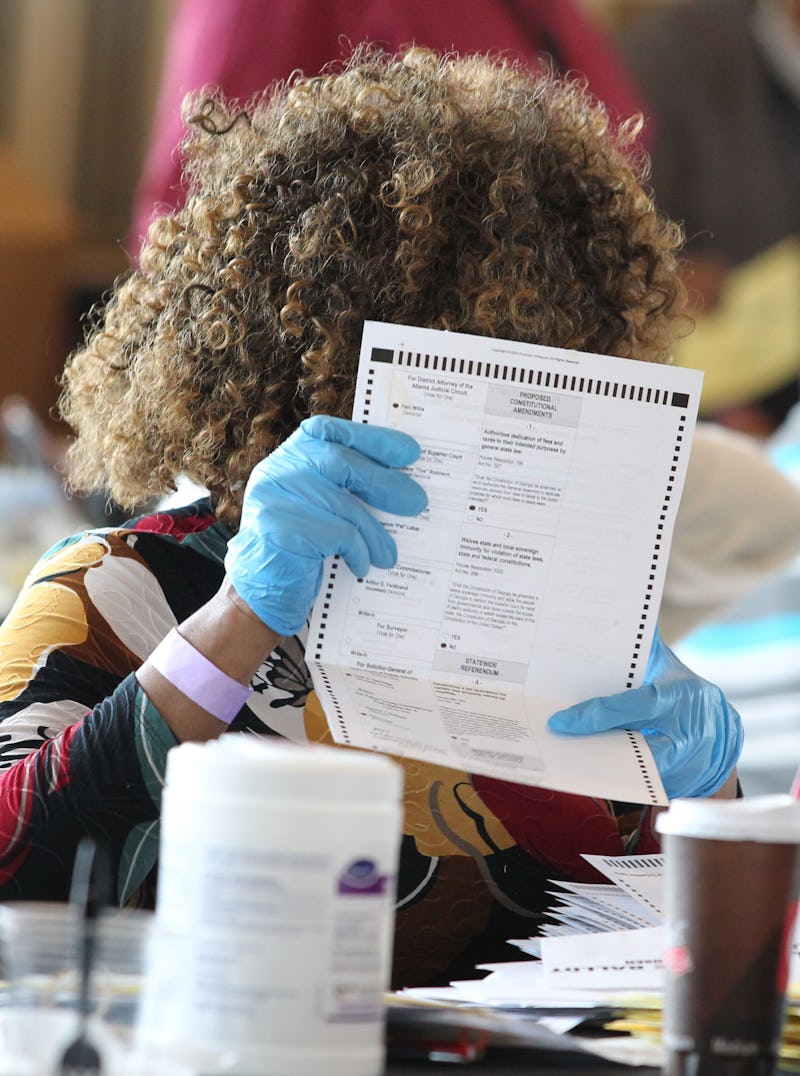
[[[225,569],[268,627],[279,635],[303,627],[326,556],[340,553],[356,576],[370,564],[394,566],[394,539],[364,502],[418,515],[425,492],[394,468],[419,454],[417,441],[398,430],[314,415],[253,468]]]

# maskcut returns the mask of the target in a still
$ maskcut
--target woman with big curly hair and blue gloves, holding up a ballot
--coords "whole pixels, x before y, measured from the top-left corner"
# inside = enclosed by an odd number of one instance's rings
[[[1,897],[65,897],[90,833],[117,902],[152,905],[172,746],[329,742],[304,663],[324,557],[391,566],[365,505],[426,502],[402,469],[416,442],[348,420],[365,320],[666,359],[680,235],[634,137],[573,82],[421,49],[359,52],[244,111],[191,102],[186,203],[151,225],[61,405],[75,489],[135,506],[187,476],[209,496],[68,539],[2,625]],[[668,791],[732,794],[735,712],[658,642],[648,675],[626,695]],[[621,725],[618,702],[560,727]],[[620,805],[404,765],[396,985],[507,957],[547,879],[590,877],[580,853],[654,847]]]

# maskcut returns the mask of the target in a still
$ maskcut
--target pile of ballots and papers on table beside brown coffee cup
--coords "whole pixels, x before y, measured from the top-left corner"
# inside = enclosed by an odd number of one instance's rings
[[[553,922],[511,945],[530,961],[481,965],[485,978],[392,995],[405,1006],[466,1021],[492,1040],[580,1050],[627,1065],[662,1062],[663,949],[661,855],[585,859],[608,884],[553,882]],[[800,1072],[800,936],[789,965],[791,987],[782,1068]],[[429,1016],[429,1019],[433,1019]]]

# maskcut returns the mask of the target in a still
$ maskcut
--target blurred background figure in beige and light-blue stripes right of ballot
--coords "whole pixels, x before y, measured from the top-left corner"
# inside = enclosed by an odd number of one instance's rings
[[[698,425],[659,618],[680,660],[742,714],[752,794],[786,792],[799,758],[799,410],[767,441]]]

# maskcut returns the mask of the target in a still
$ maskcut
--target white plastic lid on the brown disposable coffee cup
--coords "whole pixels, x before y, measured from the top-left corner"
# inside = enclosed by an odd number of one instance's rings
[[[673,799],[656,818],[659,833],[712,840],[800,844],[800,801],[789,795]]]

